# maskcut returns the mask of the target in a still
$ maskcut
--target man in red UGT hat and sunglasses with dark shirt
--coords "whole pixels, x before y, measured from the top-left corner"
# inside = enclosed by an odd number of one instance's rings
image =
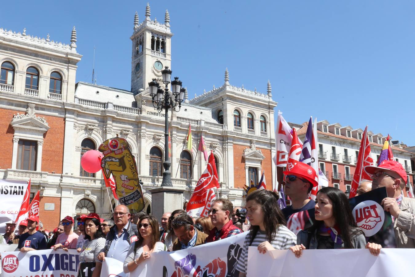
[[[318,177],[315,170],[303,162],[296,163],[290,171],[284,171],[284,175],[284,193],[290,197],[291,205],[283,208],[282,212],[288,220],[294,213],[314,208],[315,203],[308,196],[318,185]]]

